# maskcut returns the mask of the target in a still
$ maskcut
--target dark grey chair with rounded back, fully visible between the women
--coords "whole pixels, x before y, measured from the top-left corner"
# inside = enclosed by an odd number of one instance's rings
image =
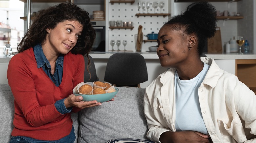
[[[110,56],[104,81],[117,87],[140,88],[140,83],[147,80],[146,61],[139,53],[115,53]]]

